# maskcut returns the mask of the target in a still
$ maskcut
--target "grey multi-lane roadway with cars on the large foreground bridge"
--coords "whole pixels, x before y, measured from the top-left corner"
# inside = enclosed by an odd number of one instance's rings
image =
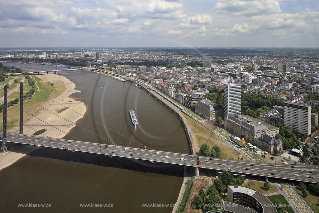
[[[2,140],[2,139],[1,139]],[[7,142],[29,144],[40,147],[59,148],[70,151],[89,152],[102,155],[126,157],[151,162],[178,164],[218,171],[230,171],[241,174],[260,175],[269,178],[280,178],[311,183],[319,183],[319,169],[309,165],[274,165],[251,162],[226,160],[204,156],[189,156],[180,153],[171,153],[159,150],[121,147],[108,144],[98,144],[83,141],[71,141],[64,139],[45,138],[34,135],[7,133]],[[156,154],[159,152],[159,154]],[[165,158],[169,156],[169,158]],[[183,158],[184,160],[181,160]],[[201,161],[201,162],[198,162]],[[302,171],[300,171],[302,170]],[[273,173],[273,174],[271,174]],[[312,178],[309,178],[312,177]]]

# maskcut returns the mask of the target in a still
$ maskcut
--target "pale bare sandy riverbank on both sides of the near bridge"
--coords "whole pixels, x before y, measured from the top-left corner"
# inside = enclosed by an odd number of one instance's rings
[[[72,93],[79,92],[78,90],[74,89],[75,84],[73,82],[71,82],[70,80],[66,79],[63,76],[59,76],[55,74],[37,75],[37,77],[41,78],[42,80],[47,80],[54,84],[56,84],[58,81],[62,81],[66,87],[66,89],[63,91],[61,95],[58,95],[57,97],[52,98],[52,100],[48,100],[46,103],[41,105],[42,107],[58,114],[59,116],[63,118],[66,118],[67,120],[70,120],[73,123],[76,123],[78,119],[83,117],[82,115],[84,115],[86,111],[85,104],[80,101],[75,101],[73,98],[69,97],[69,95],[71,95]],[[58,103],[62,104],[63,106]],[[44,109],[40,109],[35,114],[35,116],[52,126],[49,126],[48,124],[40,121],[39,119],[34,118],[28,115],[27,113],[24,113],[25,118],[26,117],[31,118],[26,122],[26,125],[32,127],[35,130],[46,129],[46,131],[43,134],[52,138],[62,138],[63,136],[66,135],[66,133],[70,131],[71,128],[75,126],[69,121],[59,118],[58,116]],[[59,130],[56,129],[55,127],[58,128]],[[23,129],[24,134],[32,135],[33,133],[35,133],[34,130],[26,126],[24,126],[23,128],[24,128]],[[19,133],[19,126],[13,128],[11,131],[14,133]],[[41,134],[41,137],[45,137],[43,134]],[[13,164],[15,161],[19,160],[21,157],[33,152],[36,149],[37,147],[35,146],[22,145],[19,148],[14,149],[13,151],[9,151],[8,153],[1,155],[0,170]]]

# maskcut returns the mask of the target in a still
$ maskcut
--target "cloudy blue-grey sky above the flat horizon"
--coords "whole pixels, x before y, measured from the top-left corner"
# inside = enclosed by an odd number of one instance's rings
[[[319,47],[318,0],[0,0],[0,47]]]

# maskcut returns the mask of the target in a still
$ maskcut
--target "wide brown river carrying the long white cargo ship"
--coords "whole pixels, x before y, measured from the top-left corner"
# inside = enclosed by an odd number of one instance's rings
[[[55,69],[50,65],[1,63],[34,70]],[[78,127],[70,130],[71,136],[82,141],[138,148],[146,145],[154,150],[189,154],[179,119],[142,89],[89,71],[61,75],[82,90],[71,95],[87,107],[87,118],[79,119],[77,124],[108,141]],[[130,108],[137,116],[137,126],[131,124]],[[1,170],[0,212],[171,212],[182,173],[182,166],[41,148]],[[51,206],[18,207],[29,203]]]

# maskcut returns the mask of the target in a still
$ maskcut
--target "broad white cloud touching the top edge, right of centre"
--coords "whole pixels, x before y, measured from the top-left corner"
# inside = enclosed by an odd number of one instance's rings
[[[277,0],[221,0],[216,3],[215,8],[219,13],[230,16],[253,16],[282,12]]]

